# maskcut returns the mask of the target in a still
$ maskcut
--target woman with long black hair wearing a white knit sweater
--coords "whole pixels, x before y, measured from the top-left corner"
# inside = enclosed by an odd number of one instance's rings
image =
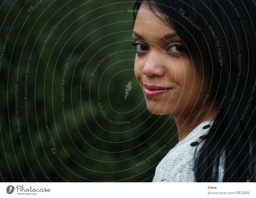
[[[149,0],[134,11],[136,79],[179,137],[153,181],[255,182],[255,2]]]

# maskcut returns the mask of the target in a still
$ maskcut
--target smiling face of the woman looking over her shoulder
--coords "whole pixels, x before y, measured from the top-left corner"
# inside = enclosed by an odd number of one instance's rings
[[[140,6],[132,34],[137,49],[134,73],[151,113],[187,115],[202,106],[210,79],[197,74],[175,30],[156,14],[161,19]]]

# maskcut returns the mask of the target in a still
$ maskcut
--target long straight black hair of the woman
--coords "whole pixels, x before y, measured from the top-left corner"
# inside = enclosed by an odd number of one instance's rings
[[[196,182],[256,182],[255,1],[145,0],[134,10],[142,3],[168,16],[157,14],[181,38],[198,74],[212,82],[220,105],[195,154]]]

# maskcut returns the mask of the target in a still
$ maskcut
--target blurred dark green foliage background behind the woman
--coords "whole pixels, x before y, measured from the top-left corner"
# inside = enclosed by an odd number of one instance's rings
[[[1,3],[0,50],[5,36],[10,35],[0,73],[0,178],[4,182],[151,182],[158,162],[178,142],[173,117],[148,112],[134,76],[134,21],[127,12],[134,2],[84,3],[44,0],[32,13],[28,8],[36,1]],[[75,7],[44,44],[57,21]],[[115,51],[92,77],[99,61]],[[67,61],[61,102],[61,76]],[[132,89],[124,99],[130,81]],[[98,102],[114,124],[104,119]],[[56,154],[52,154],[45,125],[56,144]],[[163,145],[166,147],[154,158],[136,167]]]

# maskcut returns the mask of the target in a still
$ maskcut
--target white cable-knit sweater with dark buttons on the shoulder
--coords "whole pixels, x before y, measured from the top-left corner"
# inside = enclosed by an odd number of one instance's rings
[[[156,167],[153,182],[195,182],[194,153],[204,141],[211,121],[199,124],[184,139],[173,147]],[[222,164],[223,165],[223,164]],[[221,167],[219,176],[223,175]]]

